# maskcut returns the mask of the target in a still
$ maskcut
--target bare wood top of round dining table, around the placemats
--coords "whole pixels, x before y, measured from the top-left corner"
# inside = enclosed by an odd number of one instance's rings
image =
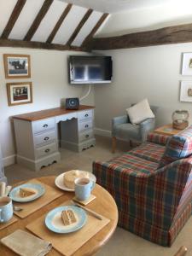
[[[41,183],[48,184],[51,187],[55,187],[55,177],[37,177],[37,179]],[[23,183],[26,183],[23,182]],[[18,185],[18,184],[17,184]],[[118,222],[118,210],[113,200],[113,197],[108,193],[107,190],[103,189],[101,186],[96,184],[95,189],[93,190],[93,194],[96,195],[96,200],[90,202],[89,207],[95,212],[102,214],[103,216],[110,218],[111,221],[107,226],[105,226],[101,231],[99,231],[96,236],[93,236],[89,241],[87,241],[84,246],[80,247],[79,250],[73,254],[73,256],[82,256],[82,255],[92,255],[102,247],[109,238],[113,235],[114,230],[116,229]],[[7,228],[0,231],[0,239],[3,236],[8,236],[10,233],[15,230],[26,230],[26,225],[34,221],[35,219],[41,217],[45,213],[49,212],[51,209],[61,205],[64,201],[71,200],[74,194],[72,192],[63,191],[63,195],[57,198],[55,201],[50,202],[48,205],[42,207],[37,212],[32,213],[26,218],[18,218],[18,221],[15,224],[9,225]],[[4,247],[3,244],[0,243],[0,255],[10,256],[17,254],[9,250],[9,248]],[[51,256],[61,256],[61,253],[55,251],[54,248],[48,253]]]

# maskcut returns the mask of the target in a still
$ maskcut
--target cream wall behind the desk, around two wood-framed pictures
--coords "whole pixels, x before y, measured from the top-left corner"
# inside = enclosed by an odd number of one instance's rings
[[[31,55],[31,79],[5,79],[3,69],[3,54]],[[54,51],[40,49],[0,48],[0,144],[6,165],[14,160],[15,139],[13,125],[9,117],[19,113],[27,113],[47,108],[56,108],[61,104],[61,98],[84,96],[88,90],[86,85],[69,85],[67,81],[67,56],[83,55],[84,53],[69,51]],[[32,81],[32,104],[8,106],[6,83]],[[94,92],[84,99],[83,104],[94,105]]]

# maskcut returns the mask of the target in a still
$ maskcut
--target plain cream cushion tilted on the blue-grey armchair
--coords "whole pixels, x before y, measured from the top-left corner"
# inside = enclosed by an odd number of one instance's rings
[[[131,108],[127,108],[126,111],[131,120],[131,124],[139,124],[144,119],[154,118],[154,113],[152,112],[147,99],[144,99],[142,102],[138,102]]]

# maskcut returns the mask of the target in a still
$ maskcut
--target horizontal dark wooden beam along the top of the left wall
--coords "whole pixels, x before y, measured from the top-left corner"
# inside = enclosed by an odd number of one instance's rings
[[[48,43],[41,43],[41,42],[1,39],[1,38],[0,38],[0,47],[87,51],[87,49],[82,47],[73,47],[73,46],[67,46],[63,44],[48,44]]]

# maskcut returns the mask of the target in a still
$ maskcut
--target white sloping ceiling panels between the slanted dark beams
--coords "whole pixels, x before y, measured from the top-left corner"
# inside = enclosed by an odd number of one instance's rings
[[[67,7],[66,1],[54,0],[51,4],[48,12],[44,16],[38,26],[37,31],[32,37],[32,41],[45,43],[52,32],[57,20],[59,20],[62,12]],[[6,24],[9,21],[9,17],[15,8],[17,0],[0,0],[0,35],[2,34]],[[38,15],[38,11],[41,9],[44,0],[26,0],[26,4],[20,12],[18,19],[15,22],[15,26],[9,34],[9,39],[23,40],[29,28],[32,26],[33,20]],[[65,20],[63,20],[58,32],[53,39],[54,44],[66,44],[68,39],[72,36],[76,27],[79,25],[80,20],[87,12],[87,8],[73,5],[72,9],[68,13]],[[84,26],[79,31],[76,38],[74,38],[72,45],[81,46],[84,42],[84,38],[91,32],[97,21],[101,18],[102,12],[93,11],[88,20],[84,23]]]

